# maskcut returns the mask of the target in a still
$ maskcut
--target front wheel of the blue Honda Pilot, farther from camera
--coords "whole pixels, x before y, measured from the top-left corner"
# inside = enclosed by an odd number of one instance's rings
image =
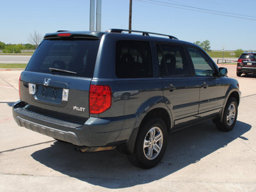
[[[220,131],[231,131],[236,125],[237,112],[237,100],[232,97],[225,106],[222,122],[218,122],[216,127]]]

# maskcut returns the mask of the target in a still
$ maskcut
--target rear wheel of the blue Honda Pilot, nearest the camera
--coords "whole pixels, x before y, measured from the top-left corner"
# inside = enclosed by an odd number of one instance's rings
[[[127,157],[131,164],[148,169],[156,166],[167,146],[166,124],[161,118],[151,118],[138,132],[134,152]]]

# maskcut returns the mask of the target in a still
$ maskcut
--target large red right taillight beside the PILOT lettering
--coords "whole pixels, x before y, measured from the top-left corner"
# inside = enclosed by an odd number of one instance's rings
[[[110,86],[91,84],[89,93],[90,114],[100,114],[111,107]]]

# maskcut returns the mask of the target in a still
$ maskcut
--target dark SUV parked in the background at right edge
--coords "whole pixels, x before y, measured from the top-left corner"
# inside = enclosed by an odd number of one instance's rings
[[[256,74],[256,52],[244,52],[237,60],[236,75]]]

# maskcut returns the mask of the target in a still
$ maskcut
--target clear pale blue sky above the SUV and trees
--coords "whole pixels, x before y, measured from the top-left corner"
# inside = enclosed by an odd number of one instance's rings
[[[90,0],[0,0],[0,24],[5,44],[27,44],[34,31],[89,31]],[[128,26],[129,0],[102,0],[101,31]],[[209,40],[212,50],[256,51],[256,1],[133,0],[132,29]]]

